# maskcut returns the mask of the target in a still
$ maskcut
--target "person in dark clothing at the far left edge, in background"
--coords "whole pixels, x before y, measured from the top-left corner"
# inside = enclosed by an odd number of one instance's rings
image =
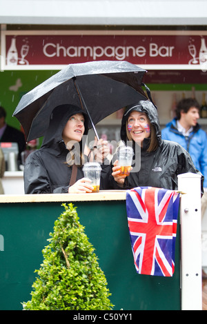
[[[21,164],[21,152],[26,150],[23,132],[6,123],[6,110],[0,106],[0,142],[17,143],[19,148],[18,165]]]

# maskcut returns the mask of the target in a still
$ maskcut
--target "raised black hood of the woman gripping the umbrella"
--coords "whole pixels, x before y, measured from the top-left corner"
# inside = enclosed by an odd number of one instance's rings
[[[43,146],[50,146],[60,141],[63,141],[62,132],[65,127],[68,119],[74,114],[83,114],[84,116],[84,126],[85,131],[84,134],[88,134],[88,114],[83,112],[81,108],[75,105],[59,105],[54,110],[52,110],[52,114],[50,115],[50,124],[48,126],[48,130],[46,131],[46,135],[43,139]]]

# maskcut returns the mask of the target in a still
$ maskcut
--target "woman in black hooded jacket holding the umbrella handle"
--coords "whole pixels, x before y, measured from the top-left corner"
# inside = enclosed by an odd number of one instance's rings
[[[26,194],[92,192],[92,185],[83,178],[82,166],[88,161],[81,148],[83,135],[88,134],[88,115],[75,105],[60,105],[53,110],[50,125],[41,148],[32,152],[24,168]],[[79,144],[79,145],[78,145]],[[109,149],[104,141],[99,148],[99,159]],[[101,162],[101,161],[99,161]],[[73,166],[72,166],[73,165]],[[104,168],[100,189],[104,187]]]

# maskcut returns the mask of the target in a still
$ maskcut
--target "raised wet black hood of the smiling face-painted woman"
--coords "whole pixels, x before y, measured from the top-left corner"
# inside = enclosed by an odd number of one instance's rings
[[[128,120],[130,112],[132,112],[133,110],[135,110],[136,112],[145,112],[147,114],[150,123],[155,126],[157,140],[160,145],[161,128],[159,125],[157,108],[155,107],[155,105],[153,105],[151,101],[148,100],[139,101],[138,103],[135,103],[134,105],[129,105],[127,107],[126,112],[124,113],[124,116],[121,121],[121,140],[124,142],[128,140],[126,135],[126,121]]]

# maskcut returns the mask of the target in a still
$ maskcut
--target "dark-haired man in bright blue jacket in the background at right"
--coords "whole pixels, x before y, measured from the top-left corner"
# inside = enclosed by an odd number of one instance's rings
[[[201,216],[207,207],[207,136],[201,129],[199,119],[200,105],[195,99],[182,99],[177,103],[176,117],[161,131],[163,139],[175,141],[185,148],[195,165],[204,175],[204,195],[201,198]],[[203,276],[207,275],[204,274]]]

